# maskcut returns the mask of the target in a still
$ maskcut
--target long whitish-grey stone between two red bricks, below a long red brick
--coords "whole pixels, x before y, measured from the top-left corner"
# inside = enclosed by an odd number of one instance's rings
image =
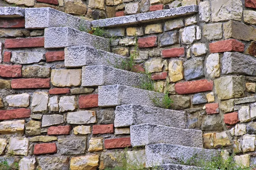
[[[12,51],[11,62],[15,64],[32,64],[45,61],[45,56],[41,52]]]

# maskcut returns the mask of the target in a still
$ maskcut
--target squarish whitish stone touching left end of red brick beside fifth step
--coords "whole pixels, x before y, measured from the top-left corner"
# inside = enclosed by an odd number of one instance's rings
[[[62,96],[59,100],[60,112],[73,111],[77,108],[75,96]]]

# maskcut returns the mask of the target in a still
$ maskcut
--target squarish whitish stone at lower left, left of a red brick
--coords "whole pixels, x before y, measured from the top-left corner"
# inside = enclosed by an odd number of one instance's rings
[[[27,156],[29,153],[29,139],[11,137],[9,139],[8,153]]]

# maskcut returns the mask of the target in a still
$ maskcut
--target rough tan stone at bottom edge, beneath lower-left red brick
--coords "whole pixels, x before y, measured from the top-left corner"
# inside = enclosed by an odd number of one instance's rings
[[[54,157],[38,157],[38,168],[40,170],[68,170],[69,157],[54,156]]]

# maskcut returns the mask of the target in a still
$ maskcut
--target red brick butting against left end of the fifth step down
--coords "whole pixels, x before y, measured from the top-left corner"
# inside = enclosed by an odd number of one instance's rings
[[[98,94],[89,94],[79,96],[79,108],[98,107]]]

